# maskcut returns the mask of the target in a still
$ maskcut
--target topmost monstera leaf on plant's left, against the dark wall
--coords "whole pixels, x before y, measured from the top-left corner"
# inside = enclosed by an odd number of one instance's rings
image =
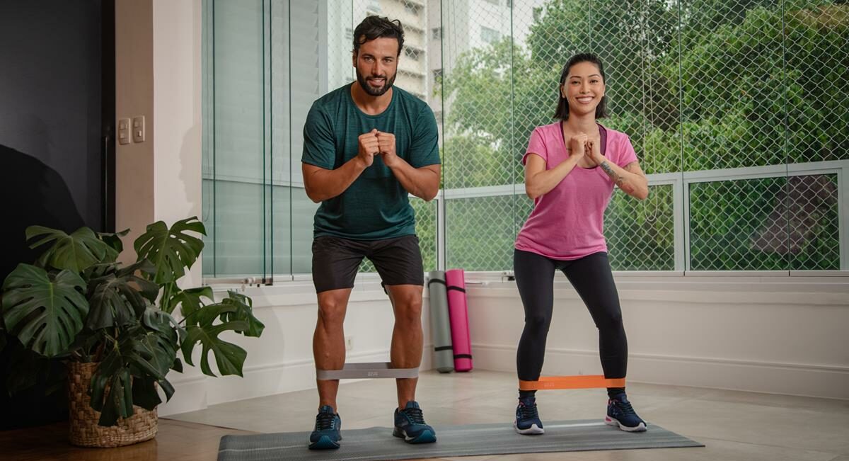
[[[26,228],[26,240],[36,240],[30,245],[33,249],[53,243],[38,258],[37,265],[41,267],[67,269],[79,273],[91,265],[114,261],[118,257],[115,248],[100,240],[97,234],[87,227],[81,227],[69,236],[63,231],[31,225]]]

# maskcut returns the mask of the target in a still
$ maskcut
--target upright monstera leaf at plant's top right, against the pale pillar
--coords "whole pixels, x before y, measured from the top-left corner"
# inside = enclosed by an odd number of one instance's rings
[[[147,259],[154,264],[154,282],[177,282],[185,275],[185,269],[194,265],[204,242],[188,231],[206,235],[203,223],[197,218],[188,218],[177,221],[171,229],[163,221],[157,221],[148,225],[147,231],[133,242],[138,260]]]

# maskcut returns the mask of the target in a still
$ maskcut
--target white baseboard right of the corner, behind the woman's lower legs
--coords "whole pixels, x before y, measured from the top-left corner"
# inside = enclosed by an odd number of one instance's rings
[[[472,344],[475,368],[515,372],[515,345]],[[593,350],[548,349],[545,375],[601,374]],[[849,367],[631,353],[629,382],[849,400]]]

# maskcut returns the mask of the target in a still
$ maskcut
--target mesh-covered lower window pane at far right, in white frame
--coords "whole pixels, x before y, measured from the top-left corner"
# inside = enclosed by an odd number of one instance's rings
[[[791,176],[690,185],[691,268],[838,269],[835,179]]]

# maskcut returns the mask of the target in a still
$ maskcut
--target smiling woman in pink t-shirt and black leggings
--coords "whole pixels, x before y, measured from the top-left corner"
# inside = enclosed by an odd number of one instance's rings
[[[613,186],[640,200],[649,185],[626,134],[604,128],[604,67],[594,54],[577,54],[560,75],[558,122],[537,127],[522,162],[526,193],[534,200],[514,250],[514,272],[525,329],[519,341],[519,378],[539,379],[554,305],[554,270],[562,270],[599,328],[605,378],[625,378],[627,339],[619,296],[602,234]],[[608,388],[604,421],[621,430],[646,430],[625,388]],[[543,434],[535,391],[520,390],[514,428]]]

